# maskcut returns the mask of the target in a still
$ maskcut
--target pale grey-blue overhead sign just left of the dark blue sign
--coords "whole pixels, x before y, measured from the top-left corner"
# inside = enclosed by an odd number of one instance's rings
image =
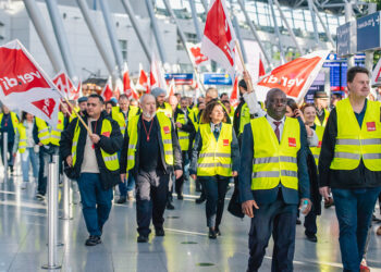
[[[336,28],[336,50],[339,57],[345,57],[357,52],[356,30],[355,22],[348,22]]]

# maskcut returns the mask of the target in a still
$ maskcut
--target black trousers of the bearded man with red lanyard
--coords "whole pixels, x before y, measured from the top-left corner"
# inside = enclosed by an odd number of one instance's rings
[[[150,222],[155,228],[161,228],[164,223],[164,210],[168,196],[170,175],[162,171],[145,172],[139,170],[136,182],[136,220],[139,235],[150,234]]]

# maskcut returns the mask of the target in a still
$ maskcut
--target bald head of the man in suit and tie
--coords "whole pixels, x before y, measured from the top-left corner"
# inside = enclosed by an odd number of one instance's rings
[[[270,89],[266,96],[266,109],[274,120],[283,119],[286,112],[287,97],[279,88]]]

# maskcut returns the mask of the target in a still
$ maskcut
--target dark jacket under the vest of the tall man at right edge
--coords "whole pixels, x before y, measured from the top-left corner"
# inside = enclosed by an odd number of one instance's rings
[[[367,103],[357,119],[364,119]],[[380,116],[381,119],[381,116]],[[319,186],[332,188],[355,189],[381,186],[381,171],[370,171],[364,165],[361,159],[359,165],[354,170],[330,169],[334,156],[334,146],[337,136],[337,113],[333,109],[327,122],[321,151],[319,157]]]

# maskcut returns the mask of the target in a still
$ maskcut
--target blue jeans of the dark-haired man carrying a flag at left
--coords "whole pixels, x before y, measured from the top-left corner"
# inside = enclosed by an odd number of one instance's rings
[[[100,236],[111,211],[112,188],[103,190],[100,175],[95,173],[82,173],[78,187],[87,231],[93,236]]]

